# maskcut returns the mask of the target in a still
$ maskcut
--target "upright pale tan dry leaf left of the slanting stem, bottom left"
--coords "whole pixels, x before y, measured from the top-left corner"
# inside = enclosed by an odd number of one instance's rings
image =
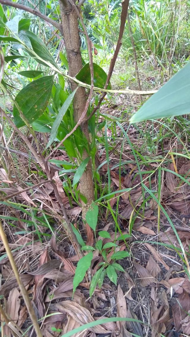
[[[10,317],[14,323],[17,323],[19,318],[19,309],[20,309],[20,293],[17,288],[10,290],[8,300],[6,303],[6,314]],[[11,336],[11,330],[8,328],[7,325],[4,326],[4,335]]]

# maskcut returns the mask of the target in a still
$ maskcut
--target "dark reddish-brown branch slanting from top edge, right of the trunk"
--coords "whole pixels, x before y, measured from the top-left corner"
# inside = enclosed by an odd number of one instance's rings
[[[105,87],[104,90],[107,89],[108,84],[110,82],[113,70],[114,70],[114,66],[116,63],[116,59],[117,56],[119,54],[119,50],[121,48],[122,45],[122,36],[123,36],[123,32],[124,32],[124,28],[125,28],[125,21],[126,21],[126,16],[127,16],[127,10],[128,10],[128,4],[129,4],[129,0],[124,0],[122,2],[122,11],[121,11],[121,24],[120,24],[120,31],[119,31],[119,37],[118,37],[118,41],[117,41],[117,45],[116,45],[116,49],[114,52],[114,56],[110,62],[110,68],[109,68],[109,72],[108,72],[108,76],[106,79],[106,83],[105,83]],[[90,116],[88,117],[87,120],[89,120],[94,114],[95,112],[100,108],[101,102],[103,101],[104,97],[106,95],[106,92],[103,92],[103,94],[101,95],[98,104],[95,106],[95,108],[93,109],[93,111],[91,112]]]

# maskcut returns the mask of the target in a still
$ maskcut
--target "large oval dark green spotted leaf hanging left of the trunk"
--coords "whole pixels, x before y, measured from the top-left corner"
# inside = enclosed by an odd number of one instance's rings
[[[43,114],[51,95],[53,77],[45,76],[29,83],[15,98],[28,123],[34,122]],[[17,127],[25,125],[15,105],[13,115]]]

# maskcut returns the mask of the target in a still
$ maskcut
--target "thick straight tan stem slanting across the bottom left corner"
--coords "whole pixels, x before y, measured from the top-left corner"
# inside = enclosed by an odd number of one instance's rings
[[[8,244],[8,240],[7,240],[7,237],[6,237],[6,234],[4,232],[4,229],[3,229],[3,226],[2,226],[2,223],[0,221],[0,235],[1,235],[1,240],[4,244],[4,247],[5,247],[5,250],[6,250],[6,253],[7,253],[7,256],[9,258],[9,262],[10,262],[10,265],[13,269],[13,272],[15,274],[15,277],[16,277],[16,280],[17,280],[17,283],[19,285],[19,288],[20,288],[20,291],[21,291],[21,294],[22,294],[22,297],[24,299],[24,302],[26,304],[26,308],[28,310],[28,313],[30,315],[30,318],[31,318],[31,321],[33,323],[33,327],[34,327],[34,330],[37,334],[38,337],[42,337],[42,332],[40,330],[40,327],[39,327],[39,324],[38,324],[38,320],[37,320],[37,317],[35,315],[35,312],[34,312],[34,309],[33,309],[33,306],[30,302],[30,299],[29,299],[29,296],[28,296],[28,293],[26,291],[26,288],[23,284],[23,282],[21,281],[20,279],[20,276],[19,276],[19,272],[18,272],[18,269],[17,269],[17,266],[15,264],[15,261],[14,261],[14,257],[12,255],[12,252],[10,250],[10,247],[9,247],[9,244]]]

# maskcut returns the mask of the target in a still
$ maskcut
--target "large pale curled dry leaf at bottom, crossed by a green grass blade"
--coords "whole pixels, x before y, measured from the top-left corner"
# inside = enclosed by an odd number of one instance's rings
[[[94,318],[92,317],[90,311],[82,307],[80,304],[75,303],[74,301],[59,302],[56,303],[54,307],[61,312],[66,312],[67,314],[69,314],[80,325],[84,325],[94,321]],[[89,330],[98,334],[108,332],[100,325],[90,328]]]

